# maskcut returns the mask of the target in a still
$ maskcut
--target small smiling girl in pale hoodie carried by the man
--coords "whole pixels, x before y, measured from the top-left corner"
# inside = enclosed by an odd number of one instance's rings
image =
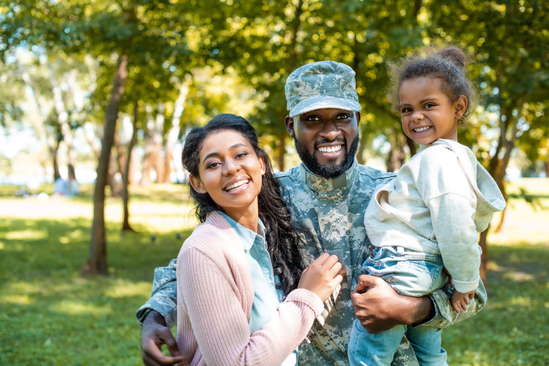
[[[406,296],[423,296],[447,281],[452,306],[466,309],[479,284],[478,232],[488,227],[505,200],[470,149],[457,142],[473,93],[465,55],[446,48],[425,58],[406,58],[393,68],[392,99],[406,136],[421,150],[394,181],[374,193],[365,212],[376,249],[363,273],[376,275]],[[351,365],[389,365],[406,333],[419,364],[445,365],[440,329],[399,325],[369,334],[355,320],[348,354]]]

